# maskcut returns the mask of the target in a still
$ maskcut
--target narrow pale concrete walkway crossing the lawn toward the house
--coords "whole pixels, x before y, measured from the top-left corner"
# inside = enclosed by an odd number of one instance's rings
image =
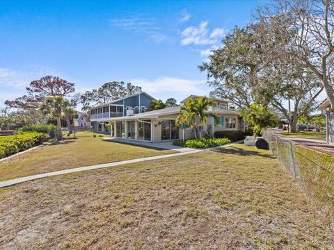
[[[238,144],[239,142],[232,142],[230,144],[225,144],[223,146],[214,147],[214,148],[211,148],[211,149],[229,147],[229,146],[232,146],[233,144]],[[0,188],[8,187],[10,185],[15,185],[15,184],[18,184],[18,183],[23,183],[23,182],[26,182],[26,181],[37,180],[39,178],[45,178],[45,177],[50,177],[50,176],[58,176],[58,175],[61,175],[61,174],[76,173],[76,172],[81,172],[81,171],[86,171],[86,170],[102,169],[102,168],[105,168],[105,167],[115,167],[115,166],[119,166],[119,165],[131,164],[131,163],[142,163],[142,162],[149,161],[149,160],[159,160],[159,159],[171,158],[171,157],[176,157],[176,156],[185,156],[185,155],[188,155],[188,154],[191,154],[191,153],[199,153],[199,152],[206,151],[206,150],[211,150],[211,149],[190,149],[190,150],[185,151],[185,152],[171,153],[171,154],[164,155],[164,156],[151,156],[151,157],[138,158],[138,159],[133,159],[133,160],[122,160],[122,161],[116,162],[116,163],[105,163],[105,164],[91,165],[91,166],[86,166],[86,167],[76,167],[76,168],[72,168],[72,169],[64,169],[64,170],[55,171],[55,172],[48,172],[48,173],[44,173],[44,174],[35,174],[35,175],[32,175],[32,176],[26,176],[26,177],[22,177],[22,178],[14,178],[14,179],[11,179],[11,180],[8,180],[8,181],[0,181]]]

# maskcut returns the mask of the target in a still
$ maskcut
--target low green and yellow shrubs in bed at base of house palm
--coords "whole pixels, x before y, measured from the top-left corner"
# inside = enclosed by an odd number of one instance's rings
[[[175,140],[173,145],[181,147],[189,147],[193,149],[206,149],[208,147],[221,146],[223,144],[230,143],[231,140],[228,138],[202,138],[198,139],[188,139],[188,140]]]

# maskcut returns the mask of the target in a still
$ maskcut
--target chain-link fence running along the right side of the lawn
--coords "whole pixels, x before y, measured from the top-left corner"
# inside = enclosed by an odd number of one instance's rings
[[[272,131],[264,131],[269,149],[315,203],[334,215],[334,156],[322,153]]]

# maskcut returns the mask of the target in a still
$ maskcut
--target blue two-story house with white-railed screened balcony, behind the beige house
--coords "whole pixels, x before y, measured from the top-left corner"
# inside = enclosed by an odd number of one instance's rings
[[[111,122],[111,119],[114,117],[126,117],[147,112],[152,100],[155,99],[149,94],[140,92],[91,108],[90,122],[93,131],[107,132],[104,124]]]

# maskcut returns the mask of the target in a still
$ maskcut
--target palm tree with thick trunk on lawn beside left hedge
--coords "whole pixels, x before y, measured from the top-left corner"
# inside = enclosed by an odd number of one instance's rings
[[[62,140],[63,135],[61,133],[61,114],[63,112],[64,98],[61,96],[47,97],[45,101],[40,105],[40,111],[45,115],[51,115],[57,119],[57,139]]]

